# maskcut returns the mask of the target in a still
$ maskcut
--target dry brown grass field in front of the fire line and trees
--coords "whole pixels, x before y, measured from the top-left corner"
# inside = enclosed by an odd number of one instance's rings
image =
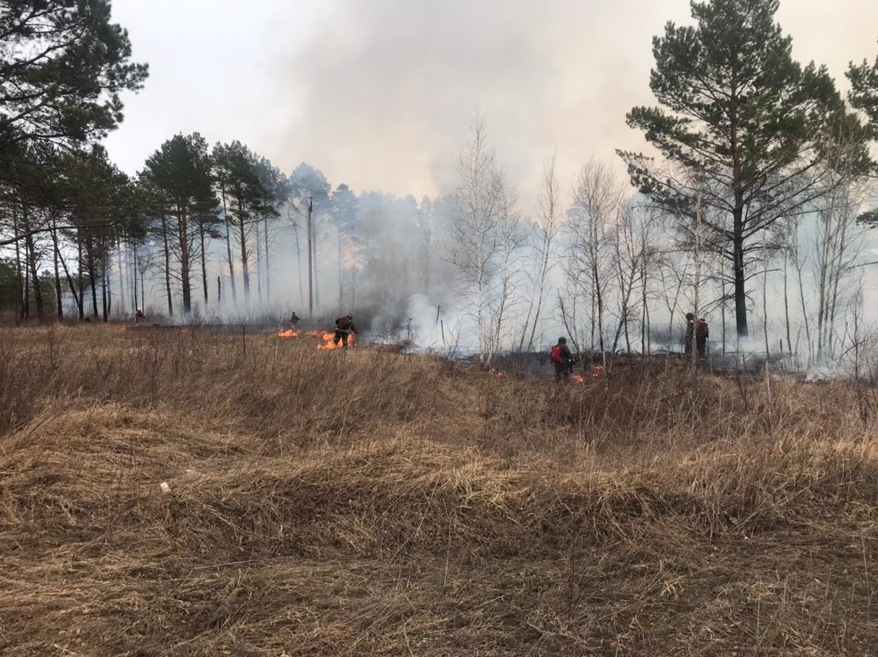
[[[0,653],[874,654],[873,400],[2,330]]]

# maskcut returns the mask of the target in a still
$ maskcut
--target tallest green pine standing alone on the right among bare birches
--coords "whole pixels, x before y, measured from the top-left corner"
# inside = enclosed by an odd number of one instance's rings
[[[691,223],[702,196],[708,243],[734,271],[739,336],[747,335],[747,265],[763,255],[766,231],[825,191],[823,141],[845,113],[826,69],[793,59],[777,9],[778,0],[693,2],[696,25],[668,23],[653,40],[650,80],[664,109],[628,114],[665,166],[619,154],[632,184],[667,213]]]

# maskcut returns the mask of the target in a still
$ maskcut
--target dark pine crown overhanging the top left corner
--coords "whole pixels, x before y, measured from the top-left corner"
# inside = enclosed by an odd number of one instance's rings
[[[0,153],[14,144],[99,139],[140,89],[128,33],[109,0],[4,0],[0,11]]]

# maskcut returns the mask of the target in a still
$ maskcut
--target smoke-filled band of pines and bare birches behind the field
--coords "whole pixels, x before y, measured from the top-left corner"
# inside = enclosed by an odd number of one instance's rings
[[[679,350],[692,311],[714,350],[841,363],[868,334],[861,222],[878,62],[852,67],[846,104],[822,69],[792,61],[775,10],[696,4],[697,27],[656,41],[651,87],[673,115],[630,113],[665,155],[623,154],[642,195],[597,160],[566,188],[553,157],[524,183],[533,213],[479,115],[456,191],[437,199],[355,192],[306,162],[287,175],[240,141],[211,148],[197,133],[157,144],[127,177],[81,136],[61,151],[22,132],[3,151],[0,303],[18,320],[144,307],[153,321],[244,321],[305,316],[310,298],[315,315],[351,310],[377,332],[412,318],[424,346],[471,348],[486,366],[559,332],[605,365],[617,350]],[[738,50],[717,63],[709,48],[728,25],[772,63]],[[709,89],[675,82],[688,64]]]

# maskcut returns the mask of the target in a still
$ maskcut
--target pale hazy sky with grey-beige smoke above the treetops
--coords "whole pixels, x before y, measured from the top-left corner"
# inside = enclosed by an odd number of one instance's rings
[[[128,172],[176,132],[238,139],[286,173],[310,162],[355,191],[435,195],[475,107],[522,199],[558,149],[562,178],[640,149],[651,37],[687,0],[114,0],[151,75],[109,140]],[[876,0],[781,0],[795,56],[878,54]]]

